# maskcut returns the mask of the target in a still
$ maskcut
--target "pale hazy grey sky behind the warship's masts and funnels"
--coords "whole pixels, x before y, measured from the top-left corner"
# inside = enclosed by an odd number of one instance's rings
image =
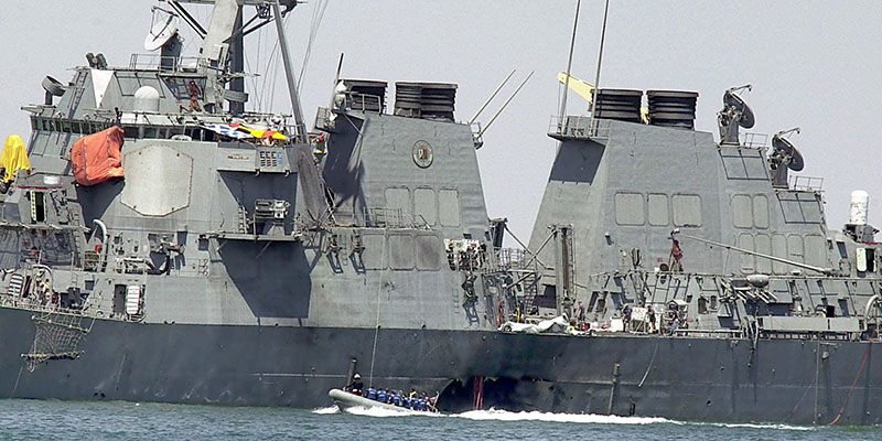
[[[8,1],[8,0],[7,0]],[[0,132],[29,133],[26,104],[41,103],[45,75],[62,83],[86,52],[110,65],[143,53],[155,0],[17,2],[0,17]],[[74,6],[76,6],[74,8]],[[478,120],[486,120],[530,72],[533,78],[484,135],[478,161],[491,217],[507,217],[527,240],[555,157],[547,137],[559,110],[556,74],[567,66],[576,1],[310,0],[286,23],[291,56],[302,65],[315,12],[326,7],[302,80],[308,126],[327,106],[341,53],[342,77],[458,83],[456,119],[467,120],[513,69],[517,73]],[[207,23],[205,7],[189,7]],[[247,9],[250,15],[251,8]],[[870,193],[870,223],[882,225],[882,2],[879,1],[637,1],[613,0],[601,87],[695,90],[696,128],[717,136],[725,89],[745,84],[756,115],[751,131],[800,127],[790,140],[806,160],[802,176],[822,178],[830,228],[847,222],[849,194]],[[583,0],[572,74],[593,82],[602,0]],[[185,55],[197,39],[189,31]],[[268,64],[275,29],[254,34],[263,46],[248,58],[251,105],[290,112],[283,78]],[[260,44],[258,44],[260,43]],[[267,44],[269,43],[269,44]],[[261,53],[261,56],[255,54]],[[273,58],[278,60],[278,57]],[[267,74],[267,72],[269,74]],[[272,78],[277,77],[273,87]],[[257,90],[257,92],[255,92]],[[392,98],[392,88],[387,93]],[[258,99],[259,98],[259,99]],[[585,112],[576,94],[568,114]],[[678,173],[700,173],[684,164]],[[879,198],[876,198],[879,197]]]

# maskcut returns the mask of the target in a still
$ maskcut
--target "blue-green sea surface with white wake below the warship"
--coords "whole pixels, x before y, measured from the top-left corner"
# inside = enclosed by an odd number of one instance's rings
[[[707,423],[664,418],[470,411],[314,410],[0,400],[0,440],[880,440],[880,427]]]

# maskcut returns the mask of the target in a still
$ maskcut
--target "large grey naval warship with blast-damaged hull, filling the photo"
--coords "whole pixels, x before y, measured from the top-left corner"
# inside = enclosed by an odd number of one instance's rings
[[[600,89],[591,116],[553,117],[531,237],[506,248],[455,84],[389,103],[338,77],[308,129],[295,6],[165,0],[153,53],[43,80],[2,157],[0,397],[313,408],[361,373],[449,412],[880,422],[867,194],[828,229],[793,131],[744,132],[741,88],[719,141],[690,92]],[[292,115],[246,110],[263,25]]]

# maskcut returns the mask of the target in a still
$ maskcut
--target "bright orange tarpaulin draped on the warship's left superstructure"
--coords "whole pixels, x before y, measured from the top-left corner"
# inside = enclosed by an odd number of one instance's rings
[[[95,185],[123,175],[119,153],[122,133],[122,128],[111,127],[79,138],[74,143],[71,149],[71,166],[76,182]]]

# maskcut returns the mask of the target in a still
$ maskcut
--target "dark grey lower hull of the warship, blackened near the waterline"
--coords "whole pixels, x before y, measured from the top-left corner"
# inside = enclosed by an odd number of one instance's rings
[[[346,383],[352,358],[370,381],[369,329],[114,321],[95,322],[78,359],[31,373],[20,356],[34,337],[31,315],[0,309],[3,397],[315,408],[333,404],[327,390]],[[870,405],[882,389],[870,379],[882,362],[858,342],[760,341],[752,354],[744,340],[380,330],[373,384],[440,390],[445,411],[471,408],[484,376],[485,408],[827,423],[864,356],[840,422],[878,423]]]

